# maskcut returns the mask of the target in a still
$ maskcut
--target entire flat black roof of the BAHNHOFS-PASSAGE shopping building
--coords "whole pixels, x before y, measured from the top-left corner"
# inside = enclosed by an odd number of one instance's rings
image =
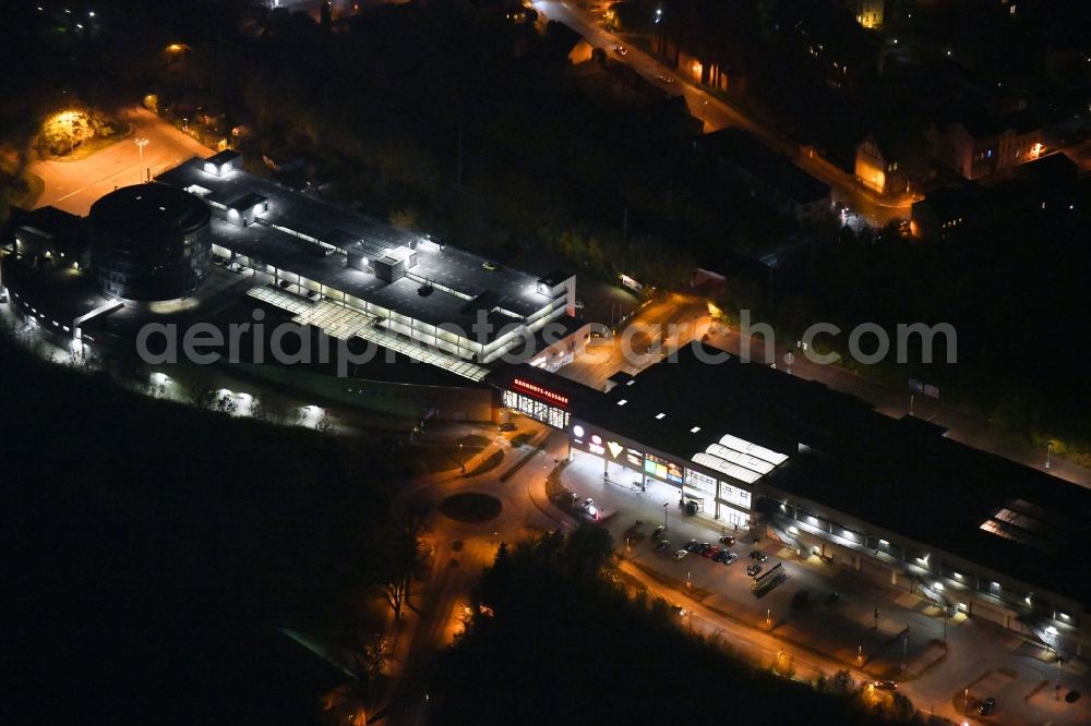
[[[529,366],[509,375],[568,396],[578,419],[680,459],[692,460],[726,434],[788,455],[762,484],[1091,602],[1091,583],[1079,576],[1091,549],[1081,523],[1091,512],[1091,489],[760,363],[700,360],[712,355],[727,354],[699,343],[683,348],[676,362],[616,377],[609,394]],[[1036,521],[1041,528],[1000,527],[1015,539],[982,529],[998,512],[1003,520],[1004,509],[1023,515],[1024,527]]]

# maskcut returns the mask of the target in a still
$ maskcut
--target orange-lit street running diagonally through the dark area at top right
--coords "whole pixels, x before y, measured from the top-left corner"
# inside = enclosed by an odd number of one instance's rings
[[[769,128],[766,122],[754,119],[694,84],[688,75],[668,68],[638,48],[626,46],[628,52],[624,58],[610,52],[614,46],[625,45],[625,41],[604,29],[592,13],[576,3],[566,0],[535,0],[533,7],[546,17],[567,25],[591,46],[607,50],[611,61],[625,63],[668,93],[684,96],[690,112],[702,120],[706,133],[726,126],[748,131],[774,150],[792,159],[804,171],[829,184],[835,202],[846,204],[874,227],[882,227],[892,219],[909,217],[911,198],[891,201],[861,186],[852,176],[818,157],[805,154],[800,144]],[[669,78],[671,82],[667,83],[662,78]]]

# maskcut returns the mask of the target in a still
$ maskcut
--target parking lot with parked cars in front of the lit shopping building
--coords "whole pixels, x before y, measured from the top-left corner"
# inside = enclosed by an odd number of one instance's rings
[[[563,436],[556,434],[551,451],[556,456],[563,447]],[[925,711],[935,709],[949,717],[966,714],[970,723],[1091,723],[1088,698],[1075,703],[1055,698],[1057,666],[1041,645],[962,614],[945,624],[940,612],[908,585],[894,588],[817,557],[801,559],[764,532],[736,530],[705,515],[687,516],[679,507],[675,487],[649,481],[642,491],[639,479],[616,464],[604,477],[602,459],[579,451],[562,473],[564,486],[611,512],[602,524],[623,556],[678,593],[674,601],[681,606],[697,603],[724,621],[822,654],[867,678],[896,681]],[[651,535],[664,521],[663,536],[671,545],[657,552]],[[697,553],[674,558],[691,540],[719,545],[724,534],[736,539],[729,549],[739,558],[730,565]],[[780,584],[759,596],[752,592],[753,580],[746,572],[755,561],[750,556],[754,549],[768,555],[764,571],[779,562],[787,572]],[[793,606],[801,591],[807,592],[806,601],[798,600]],[[992,688],[996,674],[1007,682],[999,690]],[[1064,693],[1091,690],[1082,664],[1065,664],[1060,677]],[[976,705],[988,697],[997,699],[996,711],[981,716]]]

